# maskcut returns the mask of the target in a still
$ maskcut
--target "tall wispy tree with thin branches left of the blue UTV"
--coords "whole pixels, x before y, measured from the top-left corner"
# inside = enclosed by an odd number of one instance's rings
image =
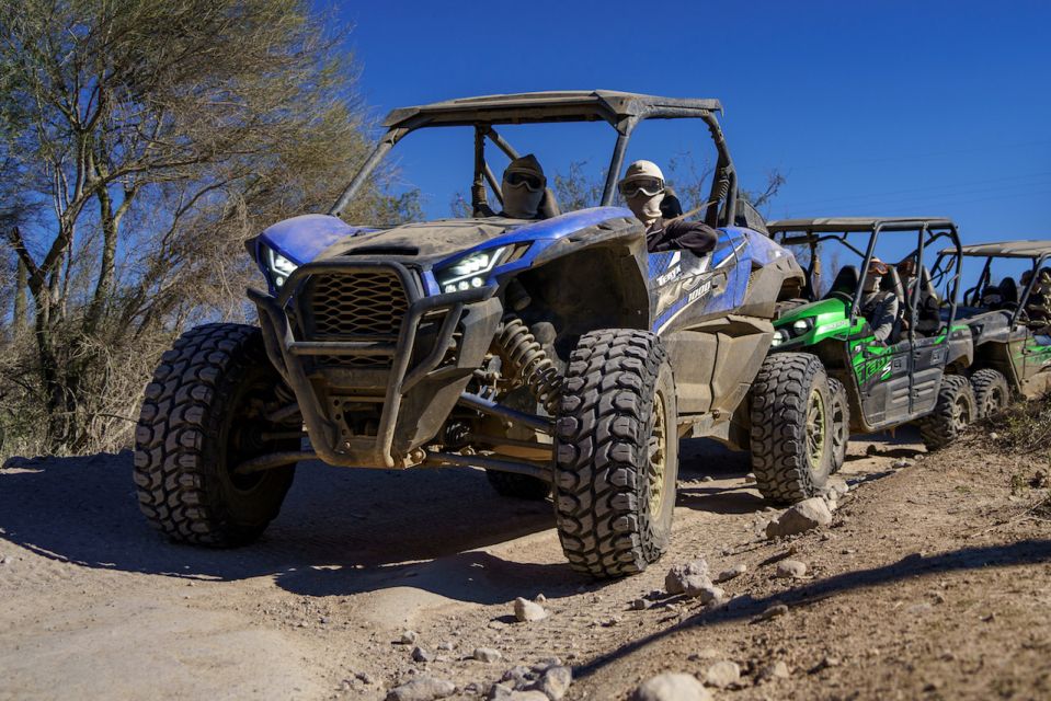
[[[0,240],[36,381],[5,377],[44,449],[126,437],[171,337],[243,313],[242,242],[334,199],[366,152],[341,38],[308,0],[0,0]],[[373,187],[347,216],[411,205]]]

